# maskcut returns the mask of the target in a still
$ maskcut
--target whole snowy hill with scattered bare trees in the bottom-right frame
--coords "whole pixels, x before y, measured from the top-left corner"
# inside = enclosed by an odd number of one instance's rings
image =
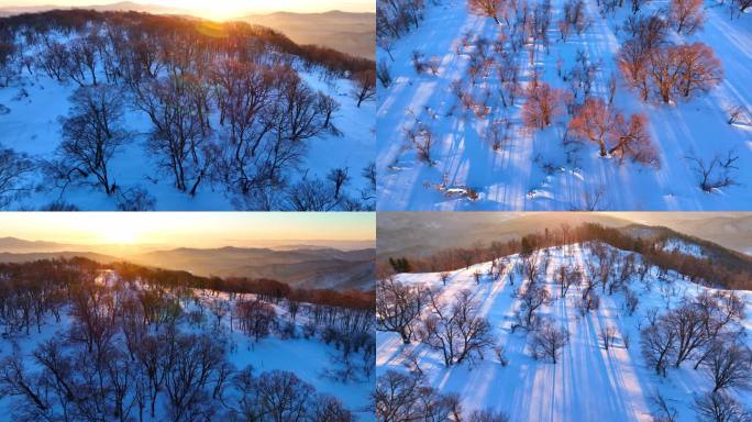
[[[632,265],[630,259],[637,273],[623,273]],[[598,274],[604,265],[613,265],[613,276],[601,285]],[[750,329],[752,296],[705,288],[676,271],[643,265],[639,254],[573,244],[544,248],[530,258],[499,256],[444,276],[398,274],[391,281],[380,281],[377,408],[400,402],[400,409],[418,409],[412,400],[428,398],[432,403],[454,400],[454,409],[464,415],[493,412],[510,421],[648,422],[672,413],[675,420],[694,420],[698,403],[715,388],[711,371],[697,359],[715,353],[714,341],[725,351],[744,353],[751,344],[743,333]],[[573,285],[559,281],[561,268]],[[388,303],[399,297],[395,292],[406,291],[389,282],[411,289],[410,295],[421,289],[425,295],[425,304],[409,325],[408,343],[385,329],[395,321],[387,316]],[[410,309],[406,303],[394,309]],[[656,371],[650,327],[667,330],[662,333],[678,330],[668,321],[697,309],[697,303],[718,306],[733,315],[721,329],[729,337],[714,340],[697,332],[689,338],[697,348],[689,357],[677,357],[684,356],[679,351],[685,346],[670,336],[670,363],[659,363],[664,369]],[[446,323],[456,315],[463,316]],[[742,334],[736,336],[737,330]],[[460,332],[471,334],[458,335],[447,353],[442,338]],[[749,376],[750,370],[742,364],[739,374]],[[411,392],[417,390],[422,392]],[[752,400],[743,388],[728,387],[722,393],[737,407]]]

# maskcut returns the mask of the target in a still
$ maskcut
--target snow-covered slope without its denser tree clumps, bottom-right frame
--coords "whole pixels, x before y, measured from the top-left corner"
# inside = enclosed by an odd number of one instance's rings
[[[695,420],[695,398],[714,390],[712,378],[705,366],[694,369],[701,347],[694,349],[692,357],[678,367],[674,366],[676,355],[670,352],[671,363],[664,377],[656,373],[654,365],[646,362],[641,331],[650,326],[650,321],[660,321],[661,315],[693,303],[696,298],[714,297],[716,293],[728,298],[732,292],[695,285],[678,274],[662,271],[656,267],[642,271],[639,257],[632,264],[626,264],[627,260],[622,258],[627,259],[627,253],[610,246],[607,249],[604,256],[616,251],[620,257],[616,258],[618,264],[609,266],[612,281],[620,279],[619,274],[623,274],[621,268],[624,265],[634,265],[635,271],[629,275],[623,285],[615,287],[611,293],[611,287],[594,284],[593,292],[599,297],[599,306],[595,304],[595,309],[591,302],[585,307],[583,300],[588,280],[591,280],[590,268],[596,274],[600,268],[598,264],[593,267],[588,265],[588,262],[597,260],[588,246],[575,244],[553,247],[538,254],[535,288],[542,288],[548,293],[542,295],[545,300],[533,311],[531,325],[534,327],[531,329],[524,327],[527,312],[523,306],[526,291],[531,289],[531,285],[528,271],[523,268],[526,259],[519,255],[444,273],[443,276],[439,273],[396,275],[394,281],[398,284],[433,291],[422,302],[419,319],[423,321],[430,321],[431,318],[440,321],[434,312],[434,302],[439,303],[438,309],[449,312],[444,314],[446,318],[455,315],[453,309],[457,308],[452,307],[457,307],[463,291],[471,292],[471,314],[487,319],[490,327],[488,337],[493,338],[493,344],[485,345],[482,357],[471,352],[460,363],[447,367],[440,347],[429,347],[429,343],[418,340],[424,338],[429,329],[424,322],[416,321],[409,344],[403,344],[396,332],[377,333],[377,375],[384,377],[390,370],[422,374],[421,382],[435,388],[438,392],[458,395],[465,417],[473,411],[490,410],[506,414],[513,422],[648,422],[664,417],[656,401],[662,398],[667,404],[666,409],[676,412],[672,420]],[[579,269],[582,275],[580,284],[569,286],[564,297],[562,284],[556,282],[562,267],[567,268],[567,274],[572,269]],[[641,273],[644,273],[642,279]],[[445,285],[442,279],[445,279]],[[743,344],[742,347],[747,347],[752,340],[744,333],[739,334],[739,330],[752,329],[752,296],[749,291],[733,293],[743,302],[741,319],[729,323],[723,330],[734,333],[730,336],[736,336]],[[637,302],[628,299],[630,296],[637,298]],[[384,300],[384,297],[380,296],[379,300]],[[631,303],[637,303],[633,312],[630,312]],[[720,303],[730,302],[721,300]],[[726,308],[721,306],[718,309]],[[440,323],[440,326],[443,325]],[[568,332],[568,342],[559,349],[555,364],[551,356],[532,357],[533,338],[541,335],[545,326]],[[610,347],[605,347],[605,333],[610,333]],[[462,343],[462,340],[456,340],[455,347]],[[726,348],[729,349],[732,343],[725,343]],[[749,362],[745,368],[749,377]],[[384,388],[389,386],[386,378],[379,379],[383,379],[379,382],[384,384]],[[733,387],[722,390],[742,406],[749,407],[752,402],[749,390]],[[381,409],[385,408],[387,406]],[[467,420],[485,419],[473,417]]]

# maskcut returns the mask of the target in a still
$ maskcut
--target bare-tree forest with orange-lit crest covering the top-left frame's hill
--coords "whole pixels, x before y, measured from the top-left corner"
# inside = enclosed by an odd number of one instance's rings
[[[376,92],[371,60],[243,22],[86,10],[1,19],[0,91],[12,98],[0,115],[15,119],[9,125],[31,118],[13,102],[31,104],[48,84],[57,86],[51,100],[69,103],[48,113],[62,107],[67,114],[46,115],[53,127],[44,138],[0,137],[4,208],[91,207],[66,200],[79,188],[119,210],[154,210],[163,181],[167,193],[185,197],[168,208],[202,191],[222,198],[214,208],[374,208],[367,162],[322,168],[328,157],[308,156],[321,138],[354,136],[350,120],[367,114],[363,103]],[[363,154],[368,144],[346,140],[343,148]],[[134,160],[153,166],[144,179]],[[19,202],[30,196],[49,202]]]

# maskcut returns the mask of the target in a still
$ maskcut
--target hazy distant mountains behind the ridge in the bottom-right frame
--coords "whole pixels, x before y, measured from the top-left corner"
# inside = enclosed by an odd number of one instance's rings
[[[665,226],[678,233],[752,255],[749,213],[579,213],[579,212],[385,212],[377,215],[378,257],[424,257],[453,246],[506,242],[545,227],[598,223],[633,230]]]

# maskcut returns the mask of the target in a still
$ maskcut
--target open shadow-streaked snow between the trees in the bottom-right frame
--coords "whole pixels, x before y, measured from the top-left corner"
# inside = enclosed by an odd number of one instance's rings
[[[678,411],[678,421],[695,420],[690,409],[693,398],[712,389],[712,382],[701,370],[692,369],[685,363],[679,368],[668,368],[667,377],[655,374],[641,355],[638,322],[646,310],[657,307],[665,312],[673,308],[683,296],[693,297],[706,289],[668,274],[672,281],[660,281],[656,268],[646,276],[652,289],[633,279],[630,289],[639,296],[639,307],[630,316],[624,309],[624,295],[602,295],[600,308],[580,315],[575,301],[580,296],[576,287],[561,298],[560,286],[553,281],[555,270],[562,264],[579,264],[593,257],[579,245],[552,248],[549,271],[540,277],[541,282],[554,300],[542,308],[541,316],[553,320],[555,326],[565,326],[571,334],[569,344],[561,351],[560,360],[534,360],[526,349],[528,336],[522,329],[511,333],[511,324],[520,300],[513,292],[520,287],[521,277],[517,275],[515,286],[510,286],[509,271],[520,264],[517,255],[510,257],[498,281],[487,278],[491,263],[471,266],[450,273],[446,287],[442,286],[439,274],[400,274],[396,279],[417,286],[425,286],[439,291],[440,300],[451,300],[456,292],[468,289],[479,301],[479,316],[487,318],[493,327],[497,344],[505,347],[508,366],[499,364],[491,351],[483,360],[467,362],[444,367],[439,352],[430,351],[413,341],[403,345],[400,336],[390,332],[377,333],[377,375],[389,369],[407,371],[406,353],[411,351],[418,357],[427,382],[441,392],[460,395],[463,409],[493,409],[502,411],[510,421],[652,421],[651,397],[655,391]],[[572,259],[572,262],[569,260]],[[480,284],[474,274],[483,274]],[[664,295],[665,292],[665,295]],[[671,293],[671,295],[668,295]],[[745,318],[741,324],[752,327],[752,295],[737,291],[745,302]],[[427,311],[428,312],[428,311]],[[606,351],[599,341],[602,327],[616,329],[613,346]],[[623,338],[629,336],[629,348]],[[748,345],[752,340],[744,337]],[[733,390],[732,395],[742,402],[752,402],[750,391]]]

